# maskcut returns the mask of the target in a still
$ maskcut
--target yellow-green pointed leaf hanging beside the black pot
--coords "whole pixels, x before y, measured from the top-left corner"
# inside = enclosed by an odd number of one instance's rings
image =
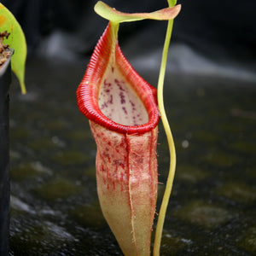
[[[0,31],[10,33],[9,38],[4,39],[4,43],[15,49],[11,66],[19,79],[21,92],[25,94],[26,38],[15,16],[2,3],[0,3]]]

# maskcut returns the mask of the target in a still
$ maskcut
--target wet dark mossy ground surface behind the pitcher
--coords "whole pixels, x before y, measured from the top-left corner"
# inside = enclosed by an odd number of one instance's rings
[[[10,95],[10,255],[121,255],[96,195],[96,144],[75,90],[86,61],[29,59]],[[142,70],[155,84],[158,73]],[[255,255],[255,110],[250,81],[168,73],[177,172],[161,255]],[[159,199],[169,166],[160,125]],[[159,207],[159,206],[158,206]]]

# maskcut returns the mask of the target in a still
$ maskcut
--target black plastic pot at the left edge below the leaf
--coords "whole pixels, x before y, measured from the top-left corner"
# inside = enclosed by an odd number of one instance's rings
[[[10,57],[0,67],[0,255],[9,249],[9,85]]]

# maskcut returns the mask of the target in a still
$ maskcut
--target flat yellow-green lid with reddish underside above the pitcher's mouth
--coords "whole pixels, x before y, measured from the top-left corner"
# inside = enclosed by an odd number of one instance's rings
[[[116,9],[111,8],[108,4],[99,1],[96,3],[94,7],[96,14],[101,15],[103,18],[107,20],[111,20],[115,23],[127,22],[127,21],[135,21],[135,20],[172,20],[174,19],[180,9],[181,5],[178,4],[174,7],[169,7],[166,9],[160,9],[158,11],[152,13],[122,13]]]

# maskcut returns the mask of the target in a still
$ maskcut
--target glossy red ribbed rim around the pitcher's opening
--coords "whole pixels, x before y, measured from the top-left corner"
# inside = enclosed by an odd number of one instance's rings
[[[119,44],[113,42],[111,23],[108,24],[102,38],[99,40],[90,63],[84,74],[82,82],[77,90],[77,102],[79,109],[88,118],[100,124],[109,130],[127,134],[140,134],[152,130],[159,122],[160,114],[157,108],[156,89],[148,84],[131,67],[131,64],[125,59]],[[112,49],[115,46],[113,55]],[[104,84],[104,74],[111,73],[117,69],[135,91],[137,97],[143,102],[143,106],[148,113],[148,121],[139,125],[122,125],[113,121],[102,113],[99,106],[99,91]],[[125,111],[125,108],[124,108]]]

